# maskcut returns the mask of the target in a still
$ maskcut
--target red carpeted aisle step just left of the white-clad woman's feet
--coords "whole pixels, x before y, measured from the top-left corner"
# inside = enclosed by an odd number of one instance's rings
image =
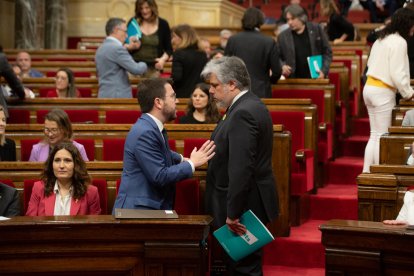
[[[356,185],[356,177],[362,173],[363,157],[343,156],[329,162],[325,170],[328,184]]]

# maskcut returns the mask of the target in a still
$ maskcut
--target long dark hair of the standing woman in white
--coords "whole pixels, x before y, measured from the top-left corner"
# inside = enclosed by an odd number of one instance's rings
[[[398,9],[392,16],[391,22],[378,32],[378,39],[383,39],[390,34],[398,33],[405,40],[410,36],[410,30],[414,26],[414,11],[410,9]]]

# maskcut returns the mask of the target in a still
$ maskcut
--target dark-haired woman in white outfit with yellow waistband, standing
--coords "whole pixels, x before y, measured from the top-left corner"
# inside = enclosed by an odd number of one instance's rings
[[[399,9],[391,22],[378,32],[371,48],[363,91],[371,133],[365,148],[363,172],[370,172],[371,165],[379,164],[379,140],[391,126],[395,93],[398,91],[406,100],[413,97],[407,55],[407,39],[413,33],[414,11]]]

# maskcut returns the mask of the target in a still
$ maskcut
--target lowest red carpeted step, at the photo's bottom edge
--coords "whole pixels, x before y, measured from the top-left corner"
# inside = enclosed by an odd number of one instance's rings
[[[264,265],[264,276],[323,276],[325,269],[319,267],[292,267],[280,265]]]

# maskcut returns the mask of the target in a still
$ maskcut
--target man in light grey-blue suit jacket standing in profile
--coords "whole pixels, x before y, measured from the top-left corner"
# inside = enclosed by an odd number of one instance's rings
[[[141,75],[147,71],[147,65],[135,62],[123,45],[128,36],[125,20],[110,18],[105,31],[107,37],[95,55],[99,76],[98,98],[131,98],[128,72]]]

